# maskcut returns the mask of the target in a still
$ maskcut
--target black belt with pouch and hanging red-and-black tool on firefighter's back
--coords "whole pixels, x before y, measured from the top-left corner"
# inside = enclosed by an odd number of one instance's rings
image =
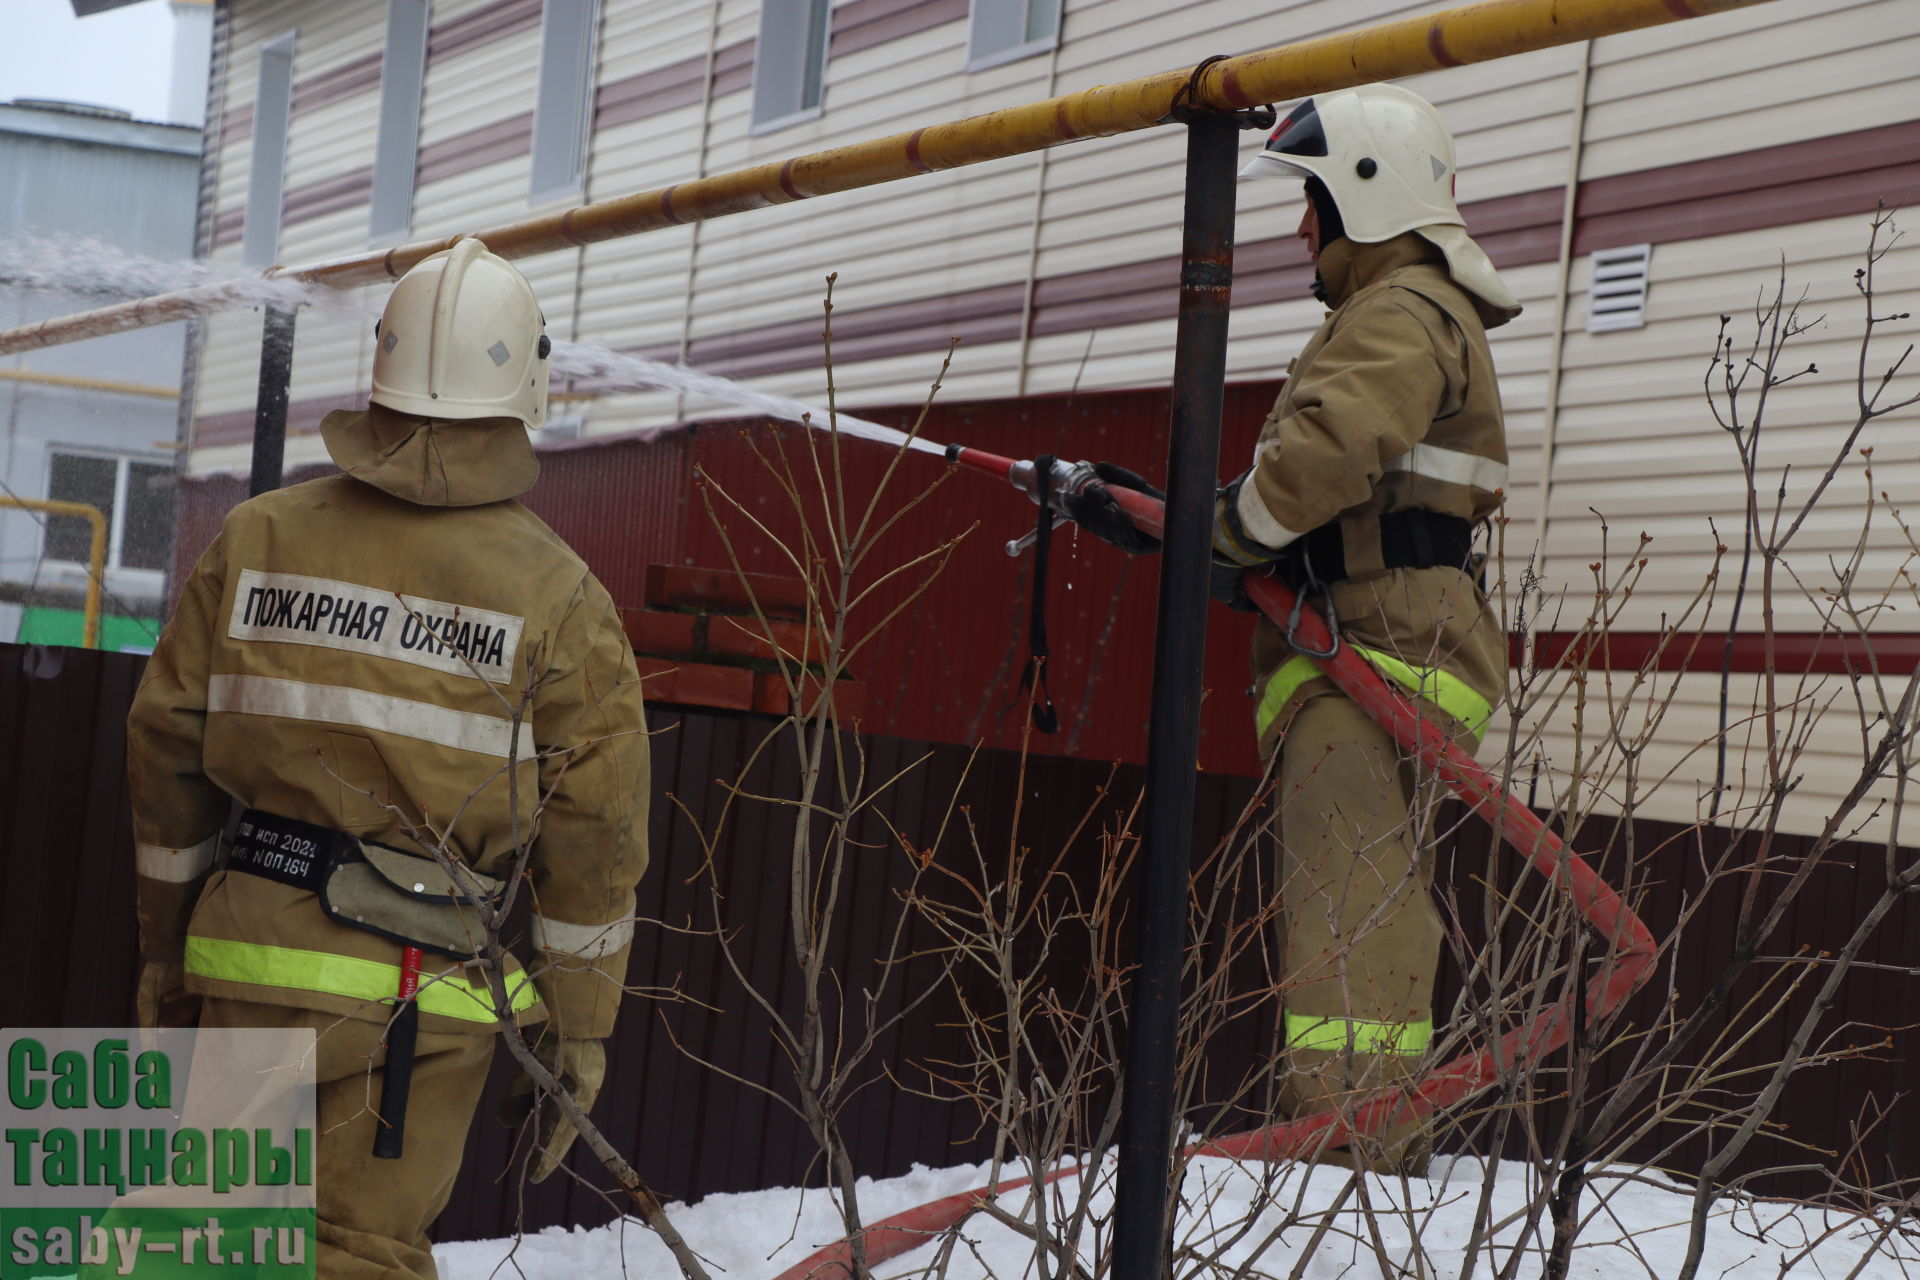
[[[372,1140],[376,1157],[399,1159],[420,1027],[415,994],[422,952],[472,960],[486,944],[480,908],[499,906],[507,894],[505,881],[459,862],[444,864],[263,810],[240,814],[227,869],[305,889],[319,898],[328,919],[401,944],[399,990],[394,992],[399,1007],[388,1023],[382,1125]]]

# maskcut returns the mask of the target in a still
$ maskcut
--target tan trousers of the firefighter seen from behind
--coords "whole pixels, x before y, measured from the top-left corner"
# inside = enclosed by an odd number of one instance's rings
[[[380,1023],[207,996],[200,1025],[313,1029],[319,1280],[438,1280],[426,1228],[453,1196],[495,1036],[420,1031],[405,1155],[374,1159],[374,1109],[386,1079]]]

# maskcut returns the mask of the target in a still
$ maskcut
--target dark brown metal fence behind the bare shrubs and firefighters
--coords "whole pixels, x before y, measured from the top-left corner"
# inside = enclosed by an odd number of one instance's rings
[[[131,654],[0,645],[0,940],[15,975],[0,996],[0,1025],[108,1027],[129,1017],[136,958],[123,720],[142,662]],[[712,829],[722,800],[716,781],[739,775],[741,762],[772,723],[760,716],[655,708],[655,862],[641,890],[645,917],[676,927],[708,921],[708,894],[699,881],[703,844],[695,831]],[[1083,883],[1098,873],[1102,852],[1098,821],[1075,837],[1081,818],[1089,810],[1117,812],[1139,793],[1139,770],[1133,766],[1116,770],[1096,760],[1060,756],[1021,762],[1006,750],[970,754],[950,745],[879,737],[858,739],[858,747],[877,777],[914,766],[885,806],[900,831],[925,839],[958,796],[970,821],[985,833],[985,842],[1004,848],[1018,800],[1018,839],[1033,848],[1066,850],[1062,869]],[[743,781],[760,794],[791,794],[791,752],[762,752]],[[1200,777],[1196,848],[1210,848],[1219,833],[1233,827],[1252,791],[1250,779]],[[1480,887],[1511,883],[1513,860],[1490,860],[1488,837],[1476,823],[1459,831],[1442,852],[1442,883],[1457,892],[1463,944],[1476,948]],[[714,865],[728,894],[730,923],[741,931],[749,975],[764,990],[778,992],[791,1011],[795,984],[789,981],[783,925],[789,833],[791,823],[781,810],[745,806],[716,846]],[[1626,846],[1620,833],[1594,829],[1584,833],[1580,844],[1594,848],[1609,835],[1615,837],[1613,850],[1601,862],[1617,875]],[[835,940],[835,967],[845,990],[885,986],[887,1000],[899,1007],[904,992],[924,984],[929,971],[893,973],[893,981],[885,983],[889,973],[877,961],[876,927],[866,921],[885,917],[906,883],[906,860],[877,816],[856,837],[866,848],[849,879],[847,919],[862,923]],[[1697,896],[1701,865],[1718,854],[1705,841],[1724,837],[1682,833],[1651,821],[1632,827],[1632,844],[1638,856],[1647,858],[1642,871],[1651,881],[1645,913],[1657,936],[1680,906]],[[1774,865],[1791,865],[1805,848],[1807,841],[1799,839],[1776,842],[1772,854],[1786,862]],[[950,842],[933,852],[950,856]],[[1880,850],[1845,850],[1814,877],[1788,919],[1786,942],[1774,950],[1832,950],[1843,942],[1864,904],[1878,894],[1880,867]],[[1772,887],[1763,902],[1770,892]],[[1653,990],[1638,1000],[1632,1023],[1647,1025],[1668,998],[1668,977],[1672,998],[1684,1009],[1693,1007],[1732,950],[1734,925],[1736,915],[1728,910],[1703,913],[1674,952],[1670,973],[1663,969]],[[804,1128],[776,1102],[785,1063],[766,1034],[766,1015],[741,996],[718,963],[710,938],[676,927],[641,931],[632,973],[637,983],[678,988],[685,1002],[628,1002],[597,1119],[622,1150],[636,1155],[664,1196],[699,1197],[818,1180]],[[1862,954],[1870,965],[1887,967],[1853,975],[1830,1027],[1849,1019],[1903,1021],[1903,1011],[1912,1007],[1910,940],[1916,935],[1920,904],[1907,902]],[[1058,963],[1071,965],[1075,960],[1068,956]],[[1728,1006],[1740,1007],[1759,994],[1761,975],[1768,971],[1761,965],[1755,977],[1743,979]],[[1450,1000],[1453,990],[1457,975],[1448,973],[1442,1000]],[[1789,1007],[1801,1009],[1809,1000],[1811,992],[1803,990]],[[883,1004],[881,1011],[887,1009]],[[960,1052],[956,1019],[954,996],[939,990],[876,1046],[876,1086],[864,1090],[847,1113],[860,1173],[883,1176],[902,1173],[914,1161],[943,1165],[983,1157],[983,1138],[970,1105],[937,1102],[879,1079],[883,1069],[914,1079],[920,1065],[954,1057]],[[1786,1027],[1774,1023],[1740,1050],[1734,1065],[1778,1059]],[[1210,1046],[1210,1059],[1223,1079],[1238,1079],[1244,1063],[1258,1059],[1269,1029],[1271,1013],[1242,1019]],[[1920,1113],[1903,1107],[1889,1121],[1876,1123],[1878,1111],[1910,1088],[1912,1063],[1920,1061],[1920,1031],[1857,1029],[1853,1038],[1884,1038],[1885,1046],[1870,1057],[1799,1077],[1780,1111],[1782,1134],[1755,1146],[1741,1161],[1741,1173],[1782,1163],[1834,1163],[1836,1157],[1820,1151],[1853,1148],[1855,1136],[1870,1128],[1851,1174],[1876,1182],[1920,1176]],[[503,1061],[505,1055],[495,1065],[495,1092],[503,1084]],[[1603,1075],[1617,1075],[1622,1063],[1624,1054],[1609,1055]],[[1546,1080],[1549,1086],[1555,1082],[1551,1075]],[[492,1123],[492,1105],[493,1094],[468,1140],[467,1173],[440,1222],[442,1238],[497,1236],[516,1221],[541,1226],[611,1217],[599,1196],[564,1178],[540,1188],[520,1188],[503,1178],[497,1171],[507,1165],[509,1134]],[[1553,1096],[1536,1105],[1534,1119],[1548,1126],[1542,1132],[1549,1136],[1567,1123]],[[1655,1142],[1670,1132],[1655,1134]],[[1788,1140],[1812,1144],[1814,1150],[1791,1148]],[[1651,1155],[1653,1150],[1649,1144],[1642,1153]],[[1688,1167],[1703,1153],[1705,1148],[1693,1142],[1663,1163]],[[1766,1186],[1812,1192],[1822,1182],[1820,1176],[1797,1174]]]

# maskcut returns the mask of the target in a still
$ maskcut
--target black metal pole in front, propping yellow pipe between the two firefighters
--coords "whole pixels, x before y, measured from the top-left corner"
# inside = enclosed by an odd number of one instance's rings
[[[1219,480],[1219,411],[1227,378],[1233,286],[1233,192],[1240,127],[1231,115],[1187,125],[1187,225],[1181,319],[1173,340],[1167,522],[1160,562],[1140,933],[1133,977],[1114,1207],[1114,1280],[1162,1280],[1173,1165],[1173,1050],[1187,948],[1200,668],[1206,652],[1208,557]]]

